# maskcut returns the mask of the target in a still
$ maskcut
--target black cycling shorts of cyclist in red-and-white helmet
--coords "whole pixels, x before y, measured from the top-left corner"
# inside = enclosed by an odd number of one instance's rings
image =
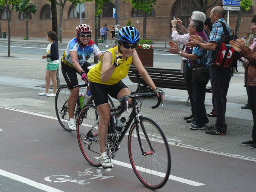
[[[85,62],[83,64],[82,69],[84,70],[85,73],[88,73],[89,70],[87,69],[87,67],[89,66],[91,66],[91,64],[88,62]],[[64,79],[69,89],[73,89],[78,86],[76,73],[79,74],[79,72],[76,70],[75,67],[70,67],[68,65],[65,65],[63,62],[61,62],[61,72],[62,72],[62,75],[64,76]]]

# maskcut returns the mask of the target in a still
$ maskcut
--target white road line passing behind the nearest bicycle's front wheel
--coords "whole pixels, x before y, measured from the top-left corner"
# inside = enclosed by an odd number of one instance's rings
[[[117,161],[117,160],[112,160],[112,162],[114,164],[116,164],[116,165],[132,169],[131,164],[129,164],[129,163],[124,163],[124,162]],[[140,167],[138,167],[138,168],[140,168]],[[140,169],[140,170],[142,170],[142,169]],[[146,171],[147,173],[151,173],[151,174],[153,173],[154,175],[159,175],[160,177],[164,177],[165,176],[161,172],[151,171],[151,170],[145,169],[145,168],[142,171]],[[173,176],[173,175],[169,175],[169,179],[170,180],[175,180],[175,181],[178,181],[178,182],[181,182],[181,183],[185,183],[185,184],[188,184],[188,185],[192,185],[192,186],[202,186],[202,185],[204,185],[204,183],[198,183],[196,181],[192,181],[192,180],[188,180],[188,179],[183,179],[181,177],[176,177],[176,176]]]

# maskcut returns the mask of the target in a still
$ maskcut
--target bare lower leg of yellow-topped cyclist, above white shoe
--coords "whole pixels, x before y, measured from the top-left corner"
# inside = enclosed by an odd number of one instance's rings
[[[108,123],[110,120],[110,105],[104,103],[98,105],[97,110],[99,111],[100,121],[99,121],[99,154],[106,151],[106,139],[108,134]]]

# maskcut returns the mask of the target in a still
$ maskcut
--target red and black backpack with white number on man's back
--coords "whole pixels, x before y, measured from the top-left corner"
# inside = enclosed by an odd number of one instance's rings
[[[230,41],[235,41],[237,37],[234,34],[229,34],[224,22],[218,22],[221,23],[223,27],[224,35],[221,37],[221,41],[219,42],[218,47],[212,53],[212,61],[215,65],[223,68],[237,67],[239,53],[230,46]]]

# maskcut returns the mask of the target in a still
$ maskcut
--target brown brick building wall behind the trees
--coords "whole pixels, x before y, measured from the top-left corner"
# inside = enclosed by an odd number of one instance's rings
[[[213,0],[212,0],[213,1]],[[253,0],[256,4],[256,0]],[[50,3],[47,0],[33,0],[31,3],[38,5],[37,12],[29,15],[29,37],[44,38],[47,31],[52,30],[52,20],[50,12]],[[211,4],[211,3],[208,3]],[[222,0],[219,0],[216,6],[222,5]],[[94,13],[95,3],[84,2],[85,11],[82,14],[82,23],[89,24],[93,29],[93,37],[95,32],[94,27]],[[103,8],[103,15],[100,20],[100,27],[103,24],[108,24],[108,28],[115,26],[115,19],[112,17],[112,10],[115,7],[115,1],[105,4]],[[189,0],[157,0],[157,4],[153,6],[154,9],[147,17],[147,35],[164,35],[171,34],[171,18],[180,17],[183,20],[184,26],[189,22],[189,17],[193,11],[193,5]],[[212,8],[207,10],[207,16]],[[57,5],[57,12],[59,11]],[[242,23],[240,25],[239,36],[250,32],[250,24],[253,15],[256,14],[255,6],[249,12],[245,12],[242,16]],[[231,29],[235,30],[238,12],[230,12],[229,23]],[[143,16],[142,12],[133,9],[131,3],[125,0],[119,0],[119,25],[125,26],[128,20],[131,19],[131,24],[135,26],[141,34],[143,34]],[[227,20],[227,14],[226,14]],[[8,31],[7,28],[7,15],[6,8],[3,9],[1,15],[1,31]],[[58,12],[59,22],[59,12]],[[75,27],[79,25],[79,14],[76,12],[75,7],[67,2],[64,6],[64,15],[62,19],[62,38],[72,38],[75,36]],[[11,36],[25,37],[26,25],[23,19],[23,14],[20,12],[12,12],[11,17]],[[110,32],[108,38],[111,38]]]

